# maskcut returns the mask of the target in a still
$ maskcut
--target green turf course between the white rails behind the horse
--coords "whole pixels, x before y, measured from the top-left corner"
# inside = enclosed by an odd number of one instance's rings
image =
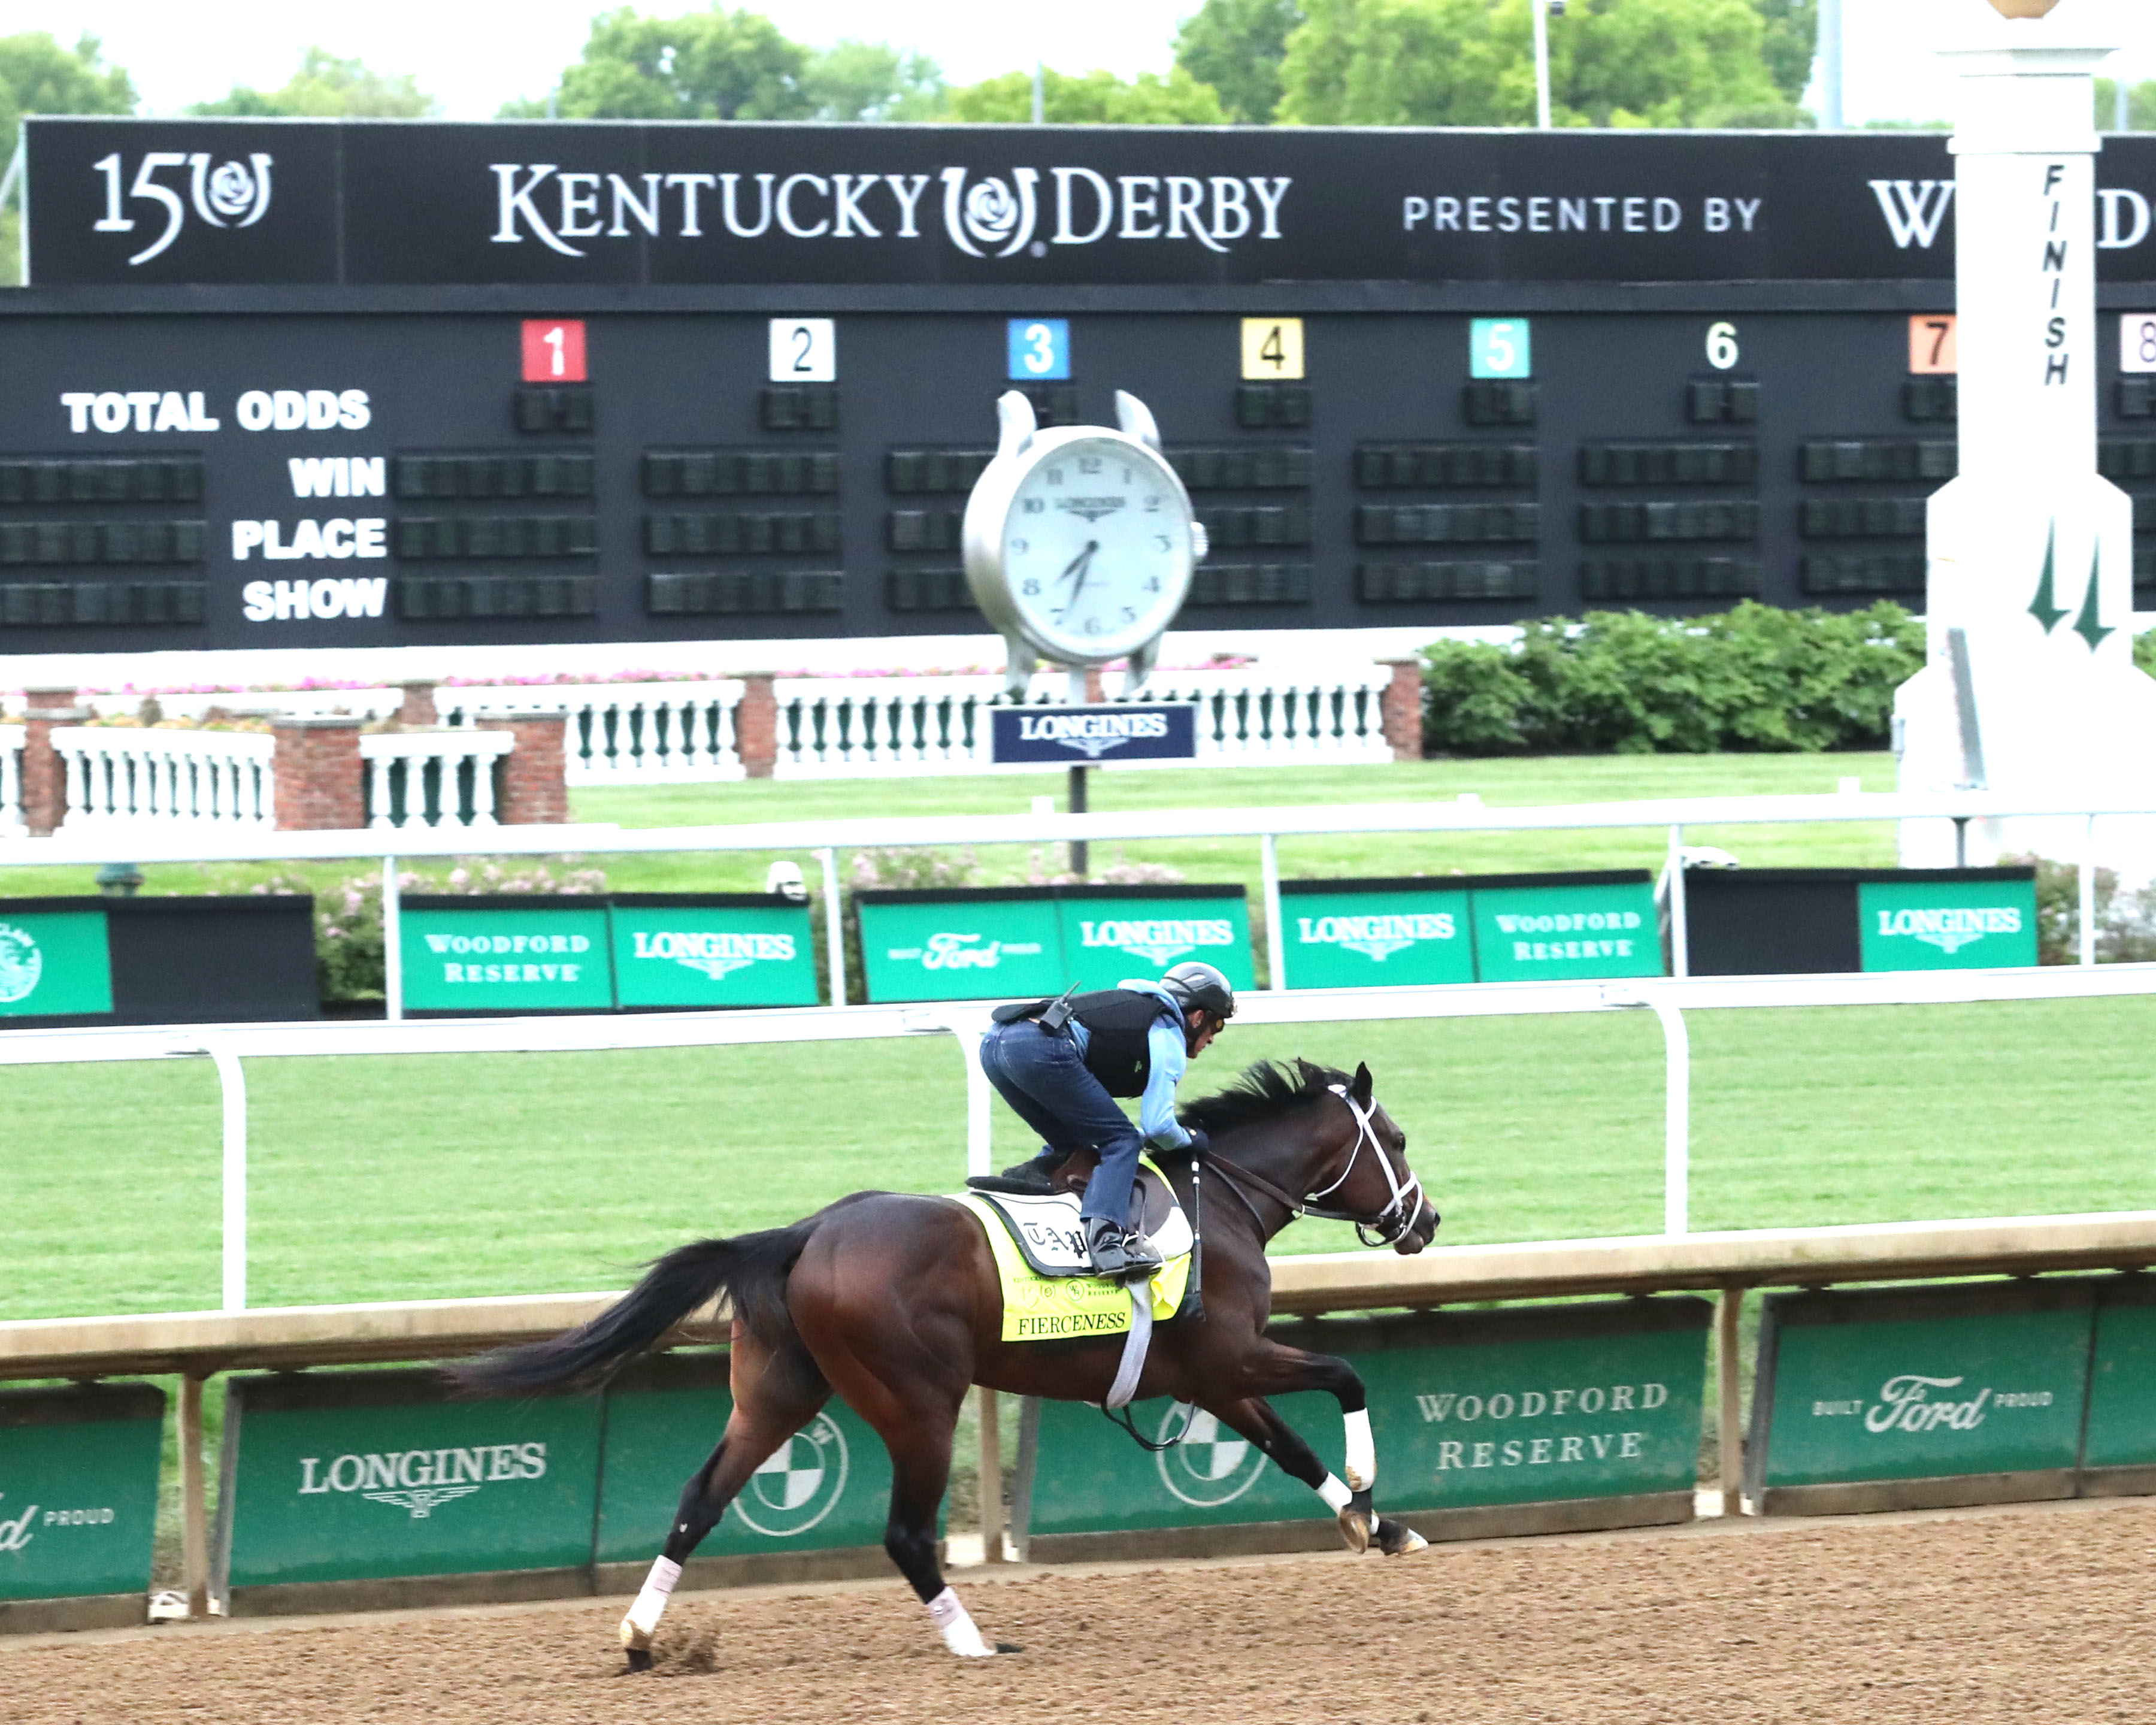
[[[2156,1003],[1695,1011],[1692,1225],[2156,1208]],[[1442,1242],[1649,1233],[1647,1013],[1231,1029],[1192,1074],[1367,1059]],[[218,1296],[207,1063],[6,1072],[0,1317]],[[619,1287],[703,1233],[964,1171],[957,1050],[918,1041],[254,1061],[250,1302]],[[998,1158],[1028,1149],[998,1108]],[[1281,1251],[1337,1251],[1298,1223]]]

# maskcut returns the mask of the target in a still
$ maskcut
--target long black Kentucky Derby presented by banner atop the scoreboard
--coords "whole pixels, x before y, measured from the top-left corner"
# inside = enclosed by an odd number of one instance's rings
[[[32,282],[1945,280],[1940,134],[28,121]],[[2156,276],[2156,140],[2100,157]]]

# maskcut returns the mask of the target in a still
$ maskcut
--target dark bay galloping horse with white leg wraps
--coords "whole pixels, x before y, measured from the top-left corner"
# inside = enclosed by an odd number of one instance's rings
[[[1419,1533],[1373,1509],[1378,1458],[1354,1367],[1266,1337],[1266,1242],[1296,1216],[1352,1220],[1365,1244],[1397,1253],[1419,1253],[1436,1236],[1438,1212],[1408,1169],[1406,1132],[1376,1102],[1367,1065],[1350,1078],[1307,1061],[1259,1061],[1181,1119],[1212,1138],[1201,1158],[1162,1158],[1186,1212],[1214,1199],[1203,1208],[1203,1315],[1153,1330],[1138,1397],[1171,1395],[1248,1438],[1324,1499],[1350,1550],[1421,1550]],[[731,1305],[733,1414],[683,1486],[664,1550],[621,1622],[627,1671],[651,1669],[651,1639],[690,1552],[832,1395],[890,1451],[884,1550],[944,1645],[962,1658],[1020,1652],[987,1645],[936,1557],[959,1404],[970,1384],[1104,1404],[1123,1339],[1005,1341],[996,1261],[975,1212],[942,1197],[854,1192],[791,1227],[679,1246],[580,1328],[451,1371],[470,1391],[597,1386],[714,1296]],[[1345,1477],[1268,1402],[1302,1389],[1339,1399]]]

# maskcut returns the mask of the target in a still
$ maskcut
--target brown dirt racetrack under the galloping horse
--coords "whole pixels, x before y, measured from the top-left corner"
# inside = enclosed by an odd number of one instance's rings
[[[888,1585],[0,1641],[9,1725],[830,1721],[2156,1721],[2156,1503],[1526,1540],[1378,1557],[962,1572],[1015,1658]]]

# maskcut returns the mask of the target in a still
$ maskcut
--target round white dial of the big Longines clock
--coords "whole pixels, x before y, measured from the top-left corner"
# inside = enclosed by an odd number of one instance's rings
[[[1003,578],[1026,632],[1082,658],[1160,634],[1190,586],[1190,515],[1166,464],[1115,438],[1039,455],[1003,522]]]

